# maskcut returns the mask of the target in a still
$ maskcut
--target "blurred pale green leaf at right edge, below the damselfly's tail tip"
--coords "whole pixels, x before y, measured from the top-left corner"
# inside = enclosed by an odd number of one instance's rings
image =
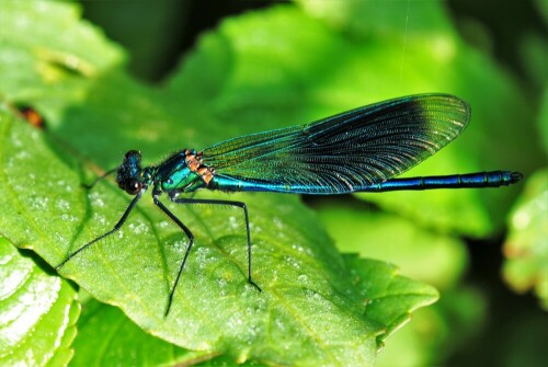
[[[510,218],[504,243],[503,275],[517,293],[534,290],[548,310],[548,170],[527,180],[527,186]]]

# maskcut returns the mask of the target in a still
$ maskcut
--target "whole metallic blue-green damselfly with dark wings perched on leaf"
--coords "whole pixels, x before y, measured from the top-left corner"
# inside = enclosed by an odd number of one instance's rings
[[[455,139],[470,119],[470,107],[449,94],[419,94],[379,102],[309,125],[252,134],[202,151],[184,149],[158,165],[141,167],[141,154],[128,151],[116,182],[134,199],[114,228],[68,255],[59,269],[91,244],[116,232],[142,194],[152,188],[155,204],[189,239],[171,287],[165,314],[194,242],[192,231],[159,197],[179,204],[229,205],[241,208],[248,240],[248,280],[251,277],[251,234],[242,202],[196,199],[181,194],[207,188],[222,192],[276,192],[335,195],[398,190],[499,187],[523,179],[518,172],[491,171],[445,176],[393,179]],[[95,181],[95,182],[96,182]]]

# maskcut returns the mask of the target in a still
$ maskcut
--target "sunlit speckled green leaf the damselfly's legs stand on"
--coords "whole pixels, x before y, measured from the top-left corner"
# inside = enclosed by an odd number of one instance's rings
[[[2,213],[1,228],[15,243],[59,264],[68,245],[75,250],[98,234],[95,228],[115,222],[122,210],[113,208],[123,209],[124,198],[109,184],[84,195],[76,174],[62,167],[38,131],[9,115],[1,121],[1,157],[15,147],[20,152],[2,162],[4,190],[12,195],[2,195],[1,207],[11,209]],[[42,169],[48,181],[32,173],[43,161],[48,162],[47,170]],[[354,290],[342,261],[309,211],[293,197],[275,196],[248,200],[250,211],[261,214],[251,222],[254,261],[260,264],[254,277],[262,294],[247,283],[239,213],[212,207],[199,215],[172,207],[187,218],[196,248],[167,319],[168,291],[186,242],[150,204],[142,203],[119,234],[91,246],[61,273],[94,297],[119,306],[150,333],[190,349],[297,365],[370,362],[378,329],[363,317],[363,307],[343,296]],[[227,228],[227,222],[233,225]]]

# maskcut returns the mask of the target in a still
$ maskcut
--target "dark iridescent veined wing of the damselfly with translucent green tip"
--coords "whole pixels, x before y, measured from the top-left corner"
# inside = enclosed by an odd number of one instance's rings
[[[265,191],[333,194],[359,191],[401,174],[466,127],[470,107],[449,94],[389,100],[309,125],[230,139],[204,150],[217,175]]]

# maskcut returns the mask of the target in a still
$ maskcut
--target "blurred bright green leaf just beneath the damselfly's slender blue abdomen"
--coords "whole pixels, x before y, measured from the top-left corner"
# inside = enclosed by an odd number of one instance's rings
[[[441,289],[455,286],[466,266],[465,244],[370,207],[330,203],[316,206],[341,252],[398,264],[400,273]]]

